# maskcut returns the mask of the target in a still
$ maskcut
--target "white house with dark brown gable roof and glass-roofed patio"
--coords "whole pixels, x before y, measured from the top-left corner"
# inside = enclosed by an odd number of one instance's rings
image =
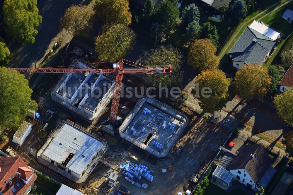
[[[213,172],[216,183],[223,189],[231,187],[233,179],[254,190],[265,188],[277,171],[270,166],[272,159],[261,144],[244,145],[238,155],[224,151]]]

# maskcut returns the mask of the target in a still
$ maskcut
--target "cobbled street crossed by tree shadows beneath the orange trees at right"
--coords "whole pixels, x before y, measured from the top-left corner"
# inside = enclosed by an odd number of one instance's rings
[[[194,83],[195,79],[184,90],[190,92],[195,87]],[[198,100],[193,99],[191,96],[186,104],[192,106],[195,110],[201,110]],[[221,112],[215,112],[213,117],[230,128],[235,128],[242,121],[250,128],[260,129],[260,132],[274,140],[281,141],[283,135],[289,131],[289,128],[276,113],[260,107],[254,102],[243,102],[237,96],[230,100]]]

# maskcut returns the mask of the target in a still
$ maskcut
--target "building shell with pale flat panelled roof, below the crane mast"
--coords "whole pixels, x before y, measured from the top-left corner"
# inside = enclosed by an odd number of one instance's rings
[[[39,150],[38,161],[63,177],[81,183],[108,149],[107,141],[71,121],[62,121]]]

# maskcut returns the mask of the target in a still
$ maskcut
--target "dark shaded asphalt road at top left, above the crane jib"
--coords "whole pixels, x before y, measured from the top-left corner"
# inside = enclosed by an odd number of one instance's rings
[[[52,48],[52,39],[59,33],[59,18],[72,4],[80,4],[82,0],[42,0],[38,1],[39,14],[43,17],[38,26],[35,43],[19,47],[16,43],[8,45],[14,54],[11,67],[29,68],[31,62],[39,61]]]

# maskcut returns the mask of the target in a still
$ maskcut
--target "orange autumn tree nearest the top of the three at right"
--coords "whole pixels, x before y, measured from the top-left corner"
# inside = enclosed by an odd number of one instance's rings
[[[209,39],[195,40],[187,53],[187,62],[199,71],[214,69],[219,66],[217,49]]]

